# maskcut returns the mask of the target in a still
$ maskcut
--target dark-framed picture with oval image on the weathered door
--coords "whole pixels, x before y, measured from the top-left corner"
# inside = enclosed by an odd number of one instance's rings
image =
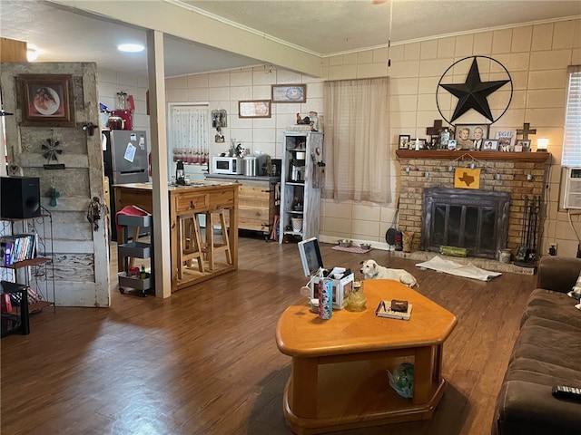
[[[74,127],[73,76],[19,75],[22,124]]]

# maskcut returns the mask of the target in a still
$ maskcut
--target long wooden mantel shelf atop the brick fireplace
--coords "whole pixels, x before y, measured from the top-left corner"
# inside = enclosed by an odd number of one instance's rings
[[[396,150],[399,159],[442,159],[442,160],[496,160],[544,163],[551,157],[550,152],[503,152],[470,150]]]

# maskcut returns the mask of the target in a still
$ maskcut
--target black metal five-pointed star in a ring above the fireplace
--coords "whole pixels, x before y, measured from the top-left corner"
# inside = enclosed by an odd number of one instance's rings
[[[462,116],[471,109],[478,111],[478,113],[484,116],[488,121],[495,122],[500,118],[500,116],[502,116],[507,111],[508,104],[510,104],[510,101],[512,100],[512,80],[510,78],[510,74],[508,73],[507,69],[502,64],[498,63],[506,72],[507,79],[483,82],[480,78],[480,72],[478,70],[478,58],[489,59],[490,61],[497,63],[497,61],[487,56],[472,56],[471,58],[467,57],[461,59],[457,63],[452,64],[448,68],[446,73],[442,74],[442,77],[440,78],[440,82],[438,83],[438,89],[443,88],[458,98],[456,109],[454,110],[451,118],[449,120],[448,119],[446,120],[450,124],[456,121],[460,116]],[[448,71],[450,71],[451,68],[453,68],[456,64],[460,62],[469,62],[469,59],[472,59],[472,63],[470,65],[470,69],[465,82],[451,84],[442,83],[442,79],[444,79],[444,77],[447,75]],[[487,97],[491,93],[496,92],[498,89],[505,86],[507,83],[511,84],[510,98],[507,102],[506,109],[495,119],[492,111],[490,110],[490,105],[488,104]],[[446,119],[446,117],[440,110],[439,103],[438,111],[444,117],[444,119]]]

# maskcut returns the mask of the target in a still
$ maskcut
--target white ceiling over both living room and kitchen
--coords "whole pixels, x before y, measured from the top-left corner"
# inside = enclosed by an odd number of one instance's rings
[[[114,8],[120,2],[112,1]],[[540,0],[156,0],[216,15],[222,22],[268,34],[308,53],[330,55],[461,34],[512,24],[581,16],[581,1]],[[140,1],[133,1],[139,7]],[[83,2],[77,2],[83,7]],[[131,22],[131,17],[128,21]],[[146,43],[145,29],[103,16],[79,14],[41,0],[0,0],[0,37],[25,41],[40,62],[96,62],[99,67],[147,74],[146,53],[120,53],[122,41]],[[221,71],[262,62],[165,35],[168,77]]]

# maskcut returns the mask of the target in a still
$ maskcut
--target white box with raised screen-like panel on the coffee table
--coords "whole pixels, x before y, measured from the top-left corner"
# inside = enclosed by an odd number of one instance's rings
[[[305,276],[310,276],[310,299],[319,299],[319,287],[323,280],[333,283],[333,308],[340,310],[347,304],[347,296],[353,291],[354,276],[344,267],[333,267],[328,271],[323,267],[319,240],[316,237],[299,242],[300,261]]]

